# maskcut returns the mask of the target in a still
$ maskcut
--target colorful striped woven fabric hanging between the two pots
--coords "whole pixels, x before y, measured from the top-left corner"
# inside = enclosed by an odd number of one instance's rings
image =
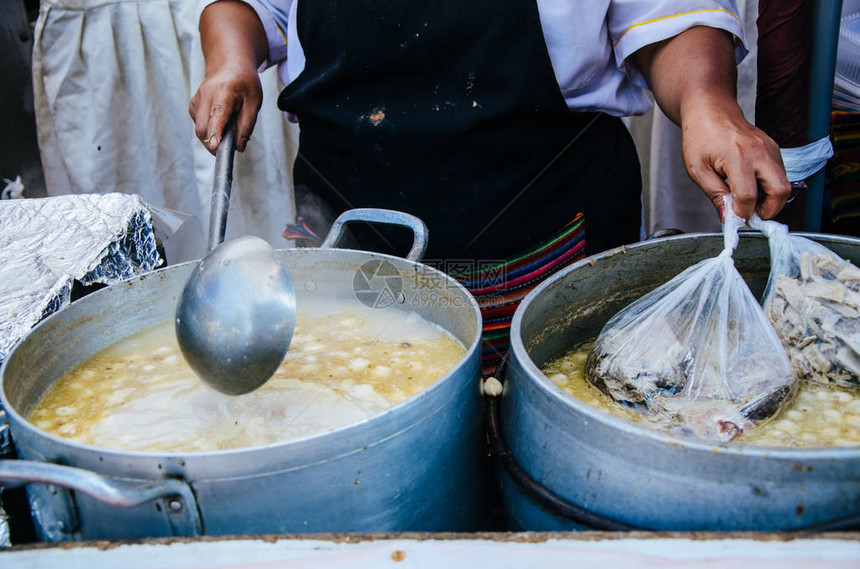
[[[557,235],[512,259],[472,267],[451,277],[478,302],[483,317],[481,366],[492,375],[510,348],[511,319],[525,296],[559,269],[585,257],[585,219],[581,213]]]

